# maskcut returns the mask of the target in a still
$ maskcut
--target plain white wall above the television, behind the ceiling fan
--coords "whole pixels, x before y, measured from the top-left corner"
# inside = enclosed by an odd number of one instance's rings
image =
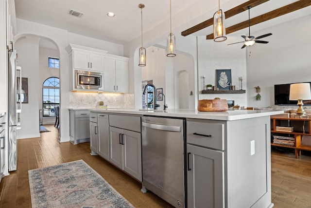
[[[311,15],[294,19],[252,34],[267,44],[248,47],[247,104],[252,107],[274,105],[274,85],[311,81]],[[249,56],[250,52],[250,56]],[[256,101],[255,87],[261,89],[261,101]]]

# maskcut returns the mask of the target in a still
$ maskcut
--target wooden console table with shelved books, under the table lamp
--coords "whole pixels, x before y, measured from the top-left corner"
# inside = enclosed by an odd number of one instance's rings
[[[292,148],[298,158],[301,150],[311,151],[311,146],[301,144],[304,135],[311,136],[311,118],[271,117],[272,146]]]

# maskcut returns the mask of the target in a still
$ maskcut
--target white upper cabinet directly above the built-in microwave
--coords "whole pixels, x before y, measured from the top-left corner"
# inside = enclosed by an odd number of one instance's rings
[[[107,51],[69,44],[67,52],[73,70],[104,72],[104,56]]]

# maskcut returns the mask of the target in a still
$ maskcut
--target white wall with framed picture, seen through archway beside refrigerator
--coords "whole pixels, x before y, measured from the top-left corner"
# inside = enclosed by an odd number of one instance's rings
[[[21,129],[17,138],[39,137],[39,38],[19,38],[15,48],[18,51],[17,66],[22,69],[22,77],[28,78],[28,103],[23,103],[20,113]]]

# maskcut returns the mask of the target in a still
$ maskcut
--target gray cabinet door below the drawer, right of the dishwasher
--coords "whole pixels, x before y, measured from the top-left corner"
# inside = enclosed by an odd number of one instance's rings
[[[224,152],[187,145],[188,207],[225,207]]]

